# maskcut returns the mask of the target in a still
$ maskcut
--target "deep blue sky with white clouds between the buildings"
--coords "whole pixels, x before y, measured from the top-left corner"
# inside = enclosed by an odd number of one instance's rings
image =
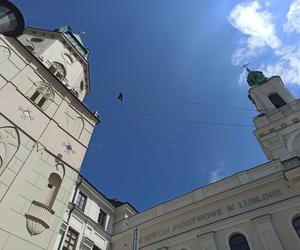
[[[140,211],[267,161],[242,65],[300,95],[300,0],[13,2],[27,26],[85,32],[101,123],[81,171]]]

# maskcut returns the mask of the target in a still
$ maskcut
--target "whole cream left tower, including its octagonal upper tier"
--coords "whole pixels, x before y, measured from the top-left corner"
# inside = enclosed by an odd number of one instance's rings
[[[0,35],[0,248],[52,249],[99,119],[88,49],[66,26]]]

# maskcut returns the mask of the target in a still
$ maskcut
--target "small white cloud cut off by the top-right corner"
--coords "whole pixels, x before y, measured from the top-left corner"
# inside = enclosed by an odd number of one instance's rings
[[[284,30],[300,33],[300,0],[291,3],[286,18],[287,22],[284,25]]]

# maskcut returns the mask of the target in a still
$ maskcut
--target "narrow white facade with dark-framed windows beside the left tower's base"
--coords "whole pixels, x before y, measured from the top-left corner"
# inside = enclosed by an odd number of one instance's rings
[[[111,249],[114,224],[135,214],[129,203],[108,199],[80,176],[54,249]]]

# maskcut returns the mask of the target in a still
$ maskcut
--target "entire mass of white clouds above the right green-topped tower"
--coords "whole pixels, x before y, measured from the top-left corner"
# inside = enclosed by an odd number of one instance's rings
[[[242,46],[232,55],[232,63],[241,65],[246,59],[254,58],[265,48],[269,48],[268,52],[271,53],[268,55],[274,56],[274,62],[255,62],[260,65],[259,70],[267,76],[280,75],[285,83],[300,86],[300,43],[287,39],[285,33],[281,33],[281,38],[277,36],[268,8],[270,5],[265,2],[264,6],[266,9],[263,9],[257,0],[242,3],[235,6],[229,14],[230,24],[244,35]],[[300,33],[300,0],[294,0],[290,4],[286,20],[283,20],[281,25],[285,32]],[[246,82],[246,75],[245,72],[240,75],[240,84]]]

